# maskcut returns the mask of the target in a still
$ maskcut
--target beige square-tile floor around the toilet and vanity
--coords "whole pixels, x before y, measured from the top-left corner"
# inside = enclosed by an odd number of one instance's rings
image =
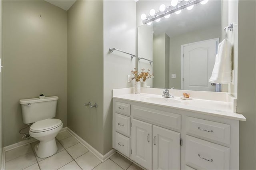
[[[56,136],[58,151],[38,158],[34,146],[39,141],[6,152],[6,170],[142,170],[118,153],[101,162],[67,131]]]

